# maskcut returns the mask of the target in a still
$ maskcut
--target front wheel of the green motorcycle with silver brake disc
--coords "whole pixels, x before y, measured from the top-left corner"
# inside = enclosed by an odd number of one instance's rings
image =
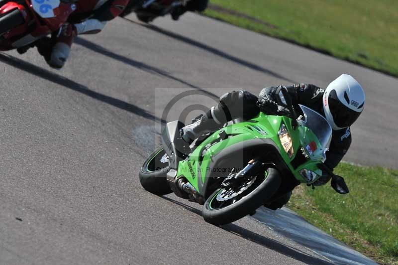
[[[274,195],[280,185],[278,170],[268,168],[265,175],[245,178],[233,188],[219,188],[204,203],[203,219],[216,226],[232,223],[255,212]]]

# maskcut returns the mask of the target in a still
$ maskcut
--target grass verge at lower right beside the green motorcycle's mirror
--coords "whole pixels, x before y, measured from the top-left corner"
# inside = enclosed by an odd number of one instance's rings
[[[398,171],[340,163],[350,193],[298,186],[288,207],[381,264],[398,265]]]

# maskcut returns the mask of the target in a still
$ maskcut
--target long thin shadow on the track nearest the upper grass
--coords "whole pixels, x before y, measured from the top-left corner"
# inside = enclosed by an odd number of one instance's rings
[[[229,60],[231,62],[234,62],[234,63],[240,64],[240,65],[243,65],[245,67],[248,67],[248,68],[250,68],[252,70],[259,71],[259,72],[261,72],[263,74],[271,75],[273,77],[280,78],[280,79],[286,80],[286,81],[291,82],[291,83],[297,83],[296,81],[291,80],[291,79],[289,79],[287,77],[284,77],[284,76],[282,76],[282,75],[280,75],[280,74],[278,74],[278,73],[276,73],[274,71],[268,70],[268,69],[266,69],[266,68],[264,68],[262,66],[259,66],[257,64],[251,63],[249,61],[240,59],[240,58],[238,58],[236,56],[228,54],[228,53],[226,53],[224,51],[221,51],[221,50],[219,50],[217,48],[210,47],[210,46],[208,46],[208,45],[206,45],[204,43],[201,43],[201,42],[199,42],[197,40],[194,40],[194,39],[191,39],[189,37],[186,37],[186,36],[183,36],[183,35],[168,31],[168,30],[165,30],[163,28],[157,27],[157,26],[152,25],[152,24],[141,24],[141,23],[138,23],[138,22],[136,22],[134,20],[128,19],[126,17],[123,17],[123,19],[125,19],[127,21],[130,21],[131,23],[144,26],[144,27],[149,28],[149,29],[151,29],[153,31],[161,33],[163,35],[172,37],[172,38],[174,38],[176,40],[179,40],[179,41],[185,42],[187,44],[193,45],[193,46],[198,47],[198,48],[200,48],[202,50],[210,52],[210,53],[212,53],[214,55],[217,55],[217,56],[220,56],[220,57],[222,57],[224,59],[227,59],[227,60]]]

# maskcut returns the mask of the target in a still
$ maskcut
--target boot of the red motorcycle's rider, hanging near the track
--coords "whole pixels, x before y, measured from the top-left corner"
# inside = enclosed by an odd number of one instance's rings
[[[64,24],[57,37],[51,56],[47,63],[54,68],[62,68],[69,57],[73,39],[77,35],[77,30],[73,24]]]

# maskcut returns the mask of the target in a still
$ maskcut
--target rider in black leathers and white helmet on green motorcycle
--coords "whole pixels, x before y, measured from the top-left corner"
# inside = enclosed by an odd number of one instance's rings
[[[181,129],[183,139],[191,143],[203,134],[220,129],[228,121],[250,120],[260,111],[269,115],[280,114],[284,108],[277,105],[276,94],[282,88],[287,89],[297,113],[300,111],[298,104],[304,105],[324,116],[332,127],[332,139],[324,164],[333,170],[350,147],[350,126],[358,119],[365,104],[361,85],[347,74],[339,76],[326,89],[312,84],[295,84],[264,88],[259,97],[247,91],[226,93],[220,97],[218,106],[210,108],[200,120]],[[313,185],[324,185],[329,180],[330,176],[324,174]],[[291,194],[266,206],[274,210],[281,208],[289,201]]]

